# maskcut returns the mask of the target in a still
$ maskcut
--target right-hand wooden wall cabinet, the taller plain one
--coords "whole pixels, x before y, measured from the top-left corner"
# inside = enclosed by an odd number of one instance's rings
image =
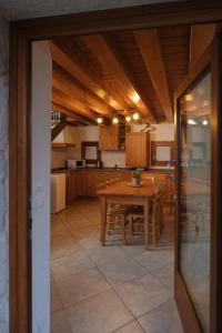
[[[127,133],[125,165],[148,168],[150,164],[150,134],[148,132]]]

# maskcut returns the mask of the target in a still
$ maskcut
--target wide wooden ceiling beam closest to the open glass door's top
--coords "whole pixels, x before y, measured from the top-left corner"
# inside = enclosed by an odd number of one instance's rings
[[[140,30],[134,31],[133,34],[163,113],[167,120],[172,122],[173,109],[158,31],[157,29]]]

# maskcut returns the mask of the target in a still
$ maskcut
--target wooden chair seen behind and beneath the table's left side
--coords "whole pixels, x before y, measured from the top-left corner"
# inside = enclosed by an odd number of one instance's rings
[[[98,190],[102,190],[107,186],[110,186],[110,185],[117,183],[118,181],[120,181],[120,179],[115,178],[115,179],[105,181],[103,183],[100,183],[98,185]],[[101,223],[105,223],[104,238],[101,234],[101,239],[100,239],[102,245],[105,244],[107,233],[109,235],[121,234],[124,244],[127,244],[125,225],[128,223],[128,219],[127,219],[128,212],[129,212],[129,206],[127,206],[127,205],[120,205],[120,204],[109,204],[108,205],[105,221],[101,221]]]

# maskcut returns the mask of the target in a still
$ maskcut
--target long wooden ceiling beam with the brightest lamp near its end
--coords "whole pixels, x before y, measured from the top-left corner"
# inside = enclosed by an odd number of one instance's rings
[[[102,63],[105,70],[113,74],[117,83],[127,93],[128,98],[130,98],[134,108],[139,109],[145,118],[150,119],[150,121],[155,122],[157,119],[151,111],[148,97],[143,95],[138,82],[132,78],[130,69],[124,67],[124,59],[120,59],[120,54],[115,53],[115,50],[113,50],[109,41],[103,36],[99,34],[81,37],[81,40],[97,57],[100,63]]]

